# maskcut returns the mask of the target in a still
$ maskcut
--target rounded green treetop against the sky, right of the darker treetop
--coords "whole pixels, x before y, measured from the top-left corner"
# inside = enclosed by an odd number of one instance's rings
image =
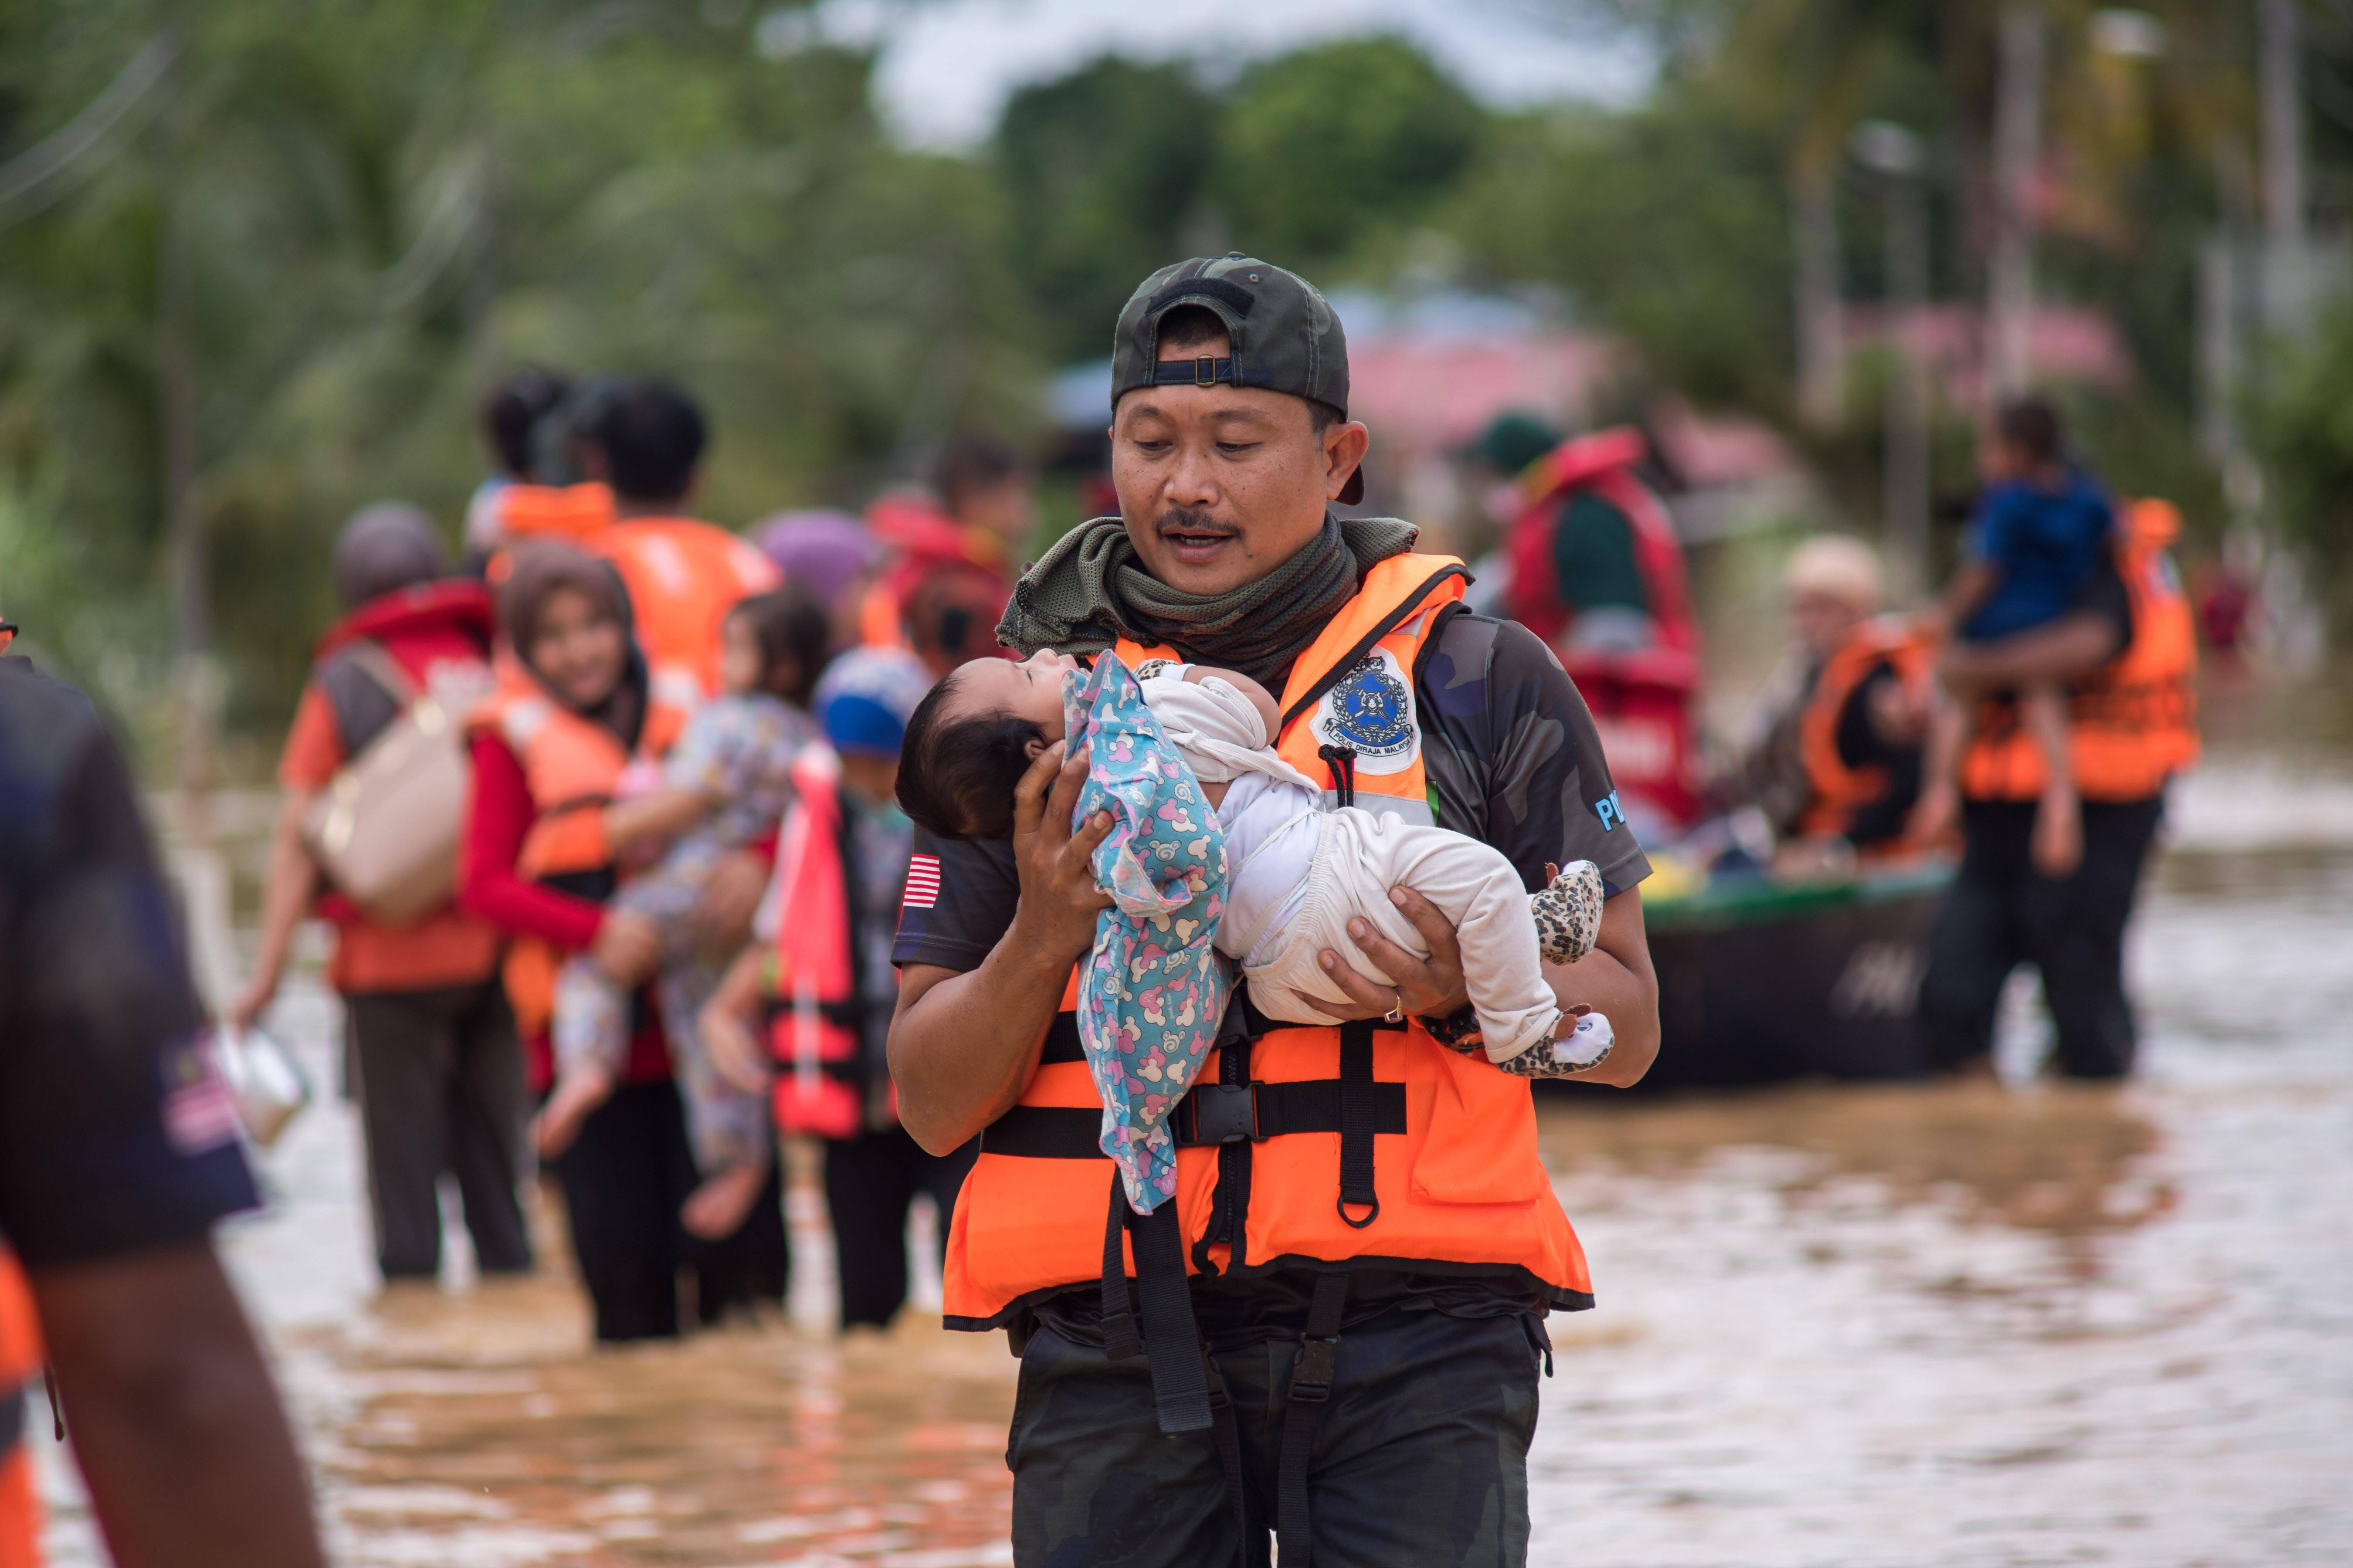
[[[1327,271],[1374,231],[1431,212],[1485,127],[1471,94],[1405,40],[1315,45],[1235,85],[1212,188],[1240,250]]]

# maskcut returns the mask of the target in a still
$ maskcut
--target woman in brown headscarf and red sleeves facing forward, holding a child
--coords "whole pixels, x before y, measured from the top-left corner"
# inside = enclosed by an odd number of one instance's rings
[[[546,1088],[562,958],[593,951],[609,972],[652,968],[652,923],[607,916],[605,899],[624,862],[656,845],[631,843],[626,815],[609,805],[621,775],[661,756],[685,713],[647,678],[612,565],[567,544],[518,549],[499,617],[499,690],[468,723],[473,812],[459,902],[511,937],[506,991],[532,1081]],[[706,1323],[732,1307],[781,1304],[786,1238],[774,1177],[725,1241],[694,1241],[678,1224],[699,1177],[659,1008],[640,1001],[621,1085],[553,1170],[598,1340],[675,1335],[682,1262],[699,1274],[694,1302]]]

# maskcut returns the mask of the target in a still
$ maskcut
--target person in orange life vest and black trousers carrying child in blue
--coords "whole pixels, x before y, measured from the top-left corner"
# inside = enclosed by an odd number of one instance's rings
[[[2073,612],[1944,655],[1974,690],[2073,683],[2082,862],[2064,878],[2035,869],[2042,751],[2014,704],[1986,702],[1960,765],[1960,878],[1937,913],[1920,979],[1918,1029],[1937,1069],[1988,1059],[2002,984],[2033,963],[2059,1026],[2059,1071],[2132,1071],[2125,923],[2165,815],[2165,784],[2198,760],[2198,636],[2169,556],[2179,532],[2169,501],[2120,506],[2113,563]]]

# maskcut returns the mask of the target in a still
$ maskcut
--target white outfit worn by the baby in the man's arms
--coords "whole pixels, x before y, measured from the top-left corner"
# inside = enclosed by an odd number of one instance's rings
[[[1186,664],[1146,664],[1144,702],[1202,784],[1226,784],[1217,822],[1231,876],[1217,951],[1242,965],[1259,1012],[1292,1024],[1337,1024],[1327,1008],[1355,1003],[1320,956],[1358,954],[1348,921],[1365,918],[1409,954],[1428,942],[1388,902],[1412,888],[1447,916],[1461,942],[1464,982],[1489,1062],[1553,1038],[1560,1001],[1544,979],[1527,890],[1501,850],[1440,826],[1355,805],[1322,808],[1322,789],[1268,744],[1266,720],[1231,680],[1186,680]]]

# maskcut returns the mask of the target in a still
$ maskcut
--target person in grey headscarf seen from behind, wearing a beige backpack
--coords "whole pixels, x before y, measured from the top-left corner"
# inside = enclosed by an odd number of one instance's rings
[[[440,1271],[440,1177],[456,1177],[485,1274],[532,1267],[522,1180],[522,1057],[499,989],[499,932],[445,904],[412,925],[379,925],[327,890],[304,850],[311,800],[419,692],[454,716],[489,683],[489,593],[447,574],[431,518],[384,501],[334,542],[339,619],[320,638],[294,709],[278,782],[285,805],[261,895],[261,951],[228,1022],[249,1029],[278,994],[296,925],[336,925],[327,984],[344,998],[346,1062],[367,1147],[367,1189],[384,1278]]]

